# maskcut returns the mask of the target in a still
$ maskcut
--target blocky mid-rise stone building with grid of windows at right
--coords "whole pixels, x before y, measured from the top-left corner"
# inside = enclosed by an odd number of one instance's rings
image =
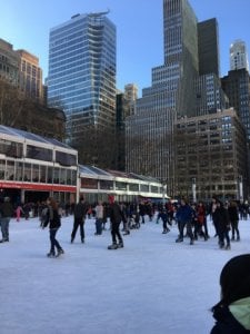
[[[209,202],[248,194],[246,130],[233,108],[174,122],[176,195]],[[241,189],[242,185],[242,189]]]

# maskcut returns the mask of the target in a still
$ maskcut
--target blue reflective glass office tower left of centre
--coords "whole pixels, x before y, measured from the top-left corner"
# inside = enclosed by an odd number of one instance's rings
[[[96,135],[114,131],[116,26],[107,13],[76,14],[50,31],[48,104],[66,112],[67,137],[74,148],[82,149],[93,136],[91,151],[79,153],[81,163],[99,161]]]

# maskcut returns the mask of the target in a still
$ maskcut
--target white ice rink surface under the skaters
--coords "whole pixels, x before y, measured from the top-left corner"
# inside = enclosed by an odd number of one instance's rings
[[[124,236],[124,248],[108,250],[110,230],[94,236],[86,222],[70,244],[72,216],[58,233],[66,254],[47,258],[49,232],[37,218],[10,223],[10,243],[0,244],[1,334],[187,334],[209,333],[209,308],[219,301],[219,275],[231,257],[249,253],[250,222],[240,222],[241,242],[231,250],[210,239],[176,244],[177,226],[146,222]]]

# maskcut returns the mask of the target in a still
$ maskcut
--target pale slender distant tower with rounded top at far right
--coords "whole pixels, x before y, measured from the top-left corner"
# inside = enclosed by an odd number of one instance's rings
[[[242,40],[236,40],[230,46],[230,70],[242,68],[249,71],[248,51]]]

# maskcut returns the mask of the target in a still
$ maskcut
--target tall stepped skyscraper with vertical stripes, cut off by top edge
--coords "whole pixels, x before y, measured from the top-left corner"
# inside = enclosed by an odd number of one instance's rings
[[[163,1],[164,63],[152,69],[134,115],[127,119],[127,170],[173,181],[173,121],[194,112],[198,76],[197,18],[187,0]]]

